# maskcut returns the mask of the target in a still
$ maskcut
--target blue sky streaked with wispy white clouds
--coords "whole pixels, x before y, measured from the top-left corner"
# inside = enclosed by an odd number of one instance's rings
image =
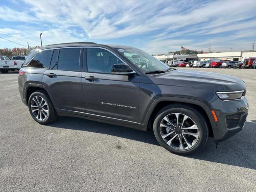
[[[150,54],[208,52],[209,43],[213,52],[252,50],[256,1],[0,0],[0,48],[40,45],[40,33],[42,45],[89,41]]]

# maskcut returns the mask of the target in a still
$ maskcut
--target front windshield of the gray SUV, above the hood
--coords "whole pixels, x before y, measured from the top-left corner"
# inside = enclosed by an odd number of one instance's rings
[[[166,71],[169,67],[150,54],[136,48],[118,48],[123,56],[133,62],[144,73],[151,71]]]

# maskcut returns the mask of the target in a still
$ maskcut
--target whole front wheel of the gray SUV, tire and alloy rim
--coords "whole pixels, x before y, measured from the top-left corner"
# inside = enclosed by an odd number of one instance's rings
[[[160,110],[153,129],[159,144],[178,155],[194,154],[208,140],[208,125],[204,115],[188,105],[172,104]]]

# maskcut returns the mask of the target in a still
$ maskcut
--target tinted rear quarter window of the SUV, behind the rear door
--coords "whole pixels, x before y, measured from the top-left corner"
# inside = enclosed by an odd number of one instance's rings
[[[48,68],[52,50],[42,50],[34,56],[27,67]]]

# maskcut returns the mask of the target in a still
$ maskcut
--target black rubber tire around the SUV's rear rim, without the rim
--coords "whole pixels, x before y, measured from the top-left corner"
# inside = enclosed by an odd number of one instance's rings
[[[42,97],[48,104],[48,116],[44,120],[38,120],[32,113],[32,109],[30,106],[31,106],[31,102],[32,102],[32,99],[34,98],[34,96]],[[30,115],[32,116],[32,118],[36,122],[38,122],[39,124],[42,124],[42,125],[50,124],[50,123],[56,121],[58,118],[58,114],[55,111],[54,105],[52,104],[52,101],[45,90],[38,90],[30,95],[30,97],[28,99],[28,109],[29,109],[29,112],[30,112]]]

